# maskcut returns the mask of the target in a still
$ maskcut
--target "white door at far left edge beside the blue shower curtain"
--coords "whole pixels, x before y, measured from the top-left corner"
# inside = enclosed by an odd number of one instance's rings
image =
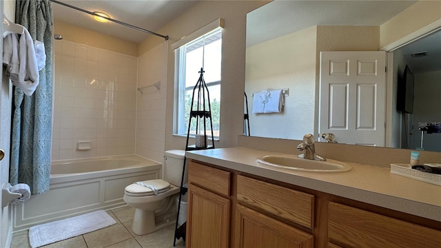
[[[3,21],[3,2],[0,3],[0,17]],[[6,1],[9,5],[11,1]],[[14,3],[15,4],[15,3]],[[9,10],[9,9],[8,9]],[[12,15],[13,17],[13,15]],[[3,25],[0,25],[0,32],[3,34]],[[0,47],[3,48],[3,39],[0,41]],[[0,53],[0,61],[3,61]],[[9,182],[9,152],[10,152],[10,123],[11,123],[11,100],[12,91],[8,77],[0,78],[0,149],[5,152],[4,158],[0,161],[0,186],[3,188]],[[0,194],[1,202],[1,194]],[[12,238],[11,208],[2,207],[0,214],[0,247],[9,247]]]

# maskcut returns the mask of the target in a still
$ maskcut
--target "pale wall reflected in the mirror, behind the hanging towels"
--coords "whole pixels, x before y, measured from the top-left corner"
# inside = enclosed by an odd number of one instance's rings
[[[245,92],[252,136],[301,139],[314,134],[316,27],[247,48]],[[289,89],[280,113],[253,114],[254,92]]]

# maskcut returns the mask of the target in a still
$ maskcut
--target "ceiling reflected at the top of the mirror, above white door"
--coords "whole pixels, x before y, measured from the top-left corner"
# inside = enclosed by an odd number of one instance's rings
[[[416,1],[276,0],[247,14],[247,45],[254,45],[314,25],[379,26]],[[252,39],[249,39],[252,37]]]

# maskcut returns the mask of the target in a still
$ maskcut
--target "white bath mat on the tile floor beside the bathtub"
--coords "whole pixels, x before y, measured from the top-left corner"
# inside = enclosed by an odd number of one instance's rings
[[[36,225],[29,229],[29,242],[32,248],[52,244],[103,227],[114,225],[116,221],[104,210],[81,216]]]

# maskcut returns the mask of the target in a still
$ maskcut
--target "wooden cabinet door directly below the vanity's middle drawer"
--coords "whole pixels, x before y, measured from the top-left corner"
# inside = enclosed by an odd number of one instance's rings
[[[237,248],[312,248],[314,236],[243,205],[236,205],[235,242]]]

